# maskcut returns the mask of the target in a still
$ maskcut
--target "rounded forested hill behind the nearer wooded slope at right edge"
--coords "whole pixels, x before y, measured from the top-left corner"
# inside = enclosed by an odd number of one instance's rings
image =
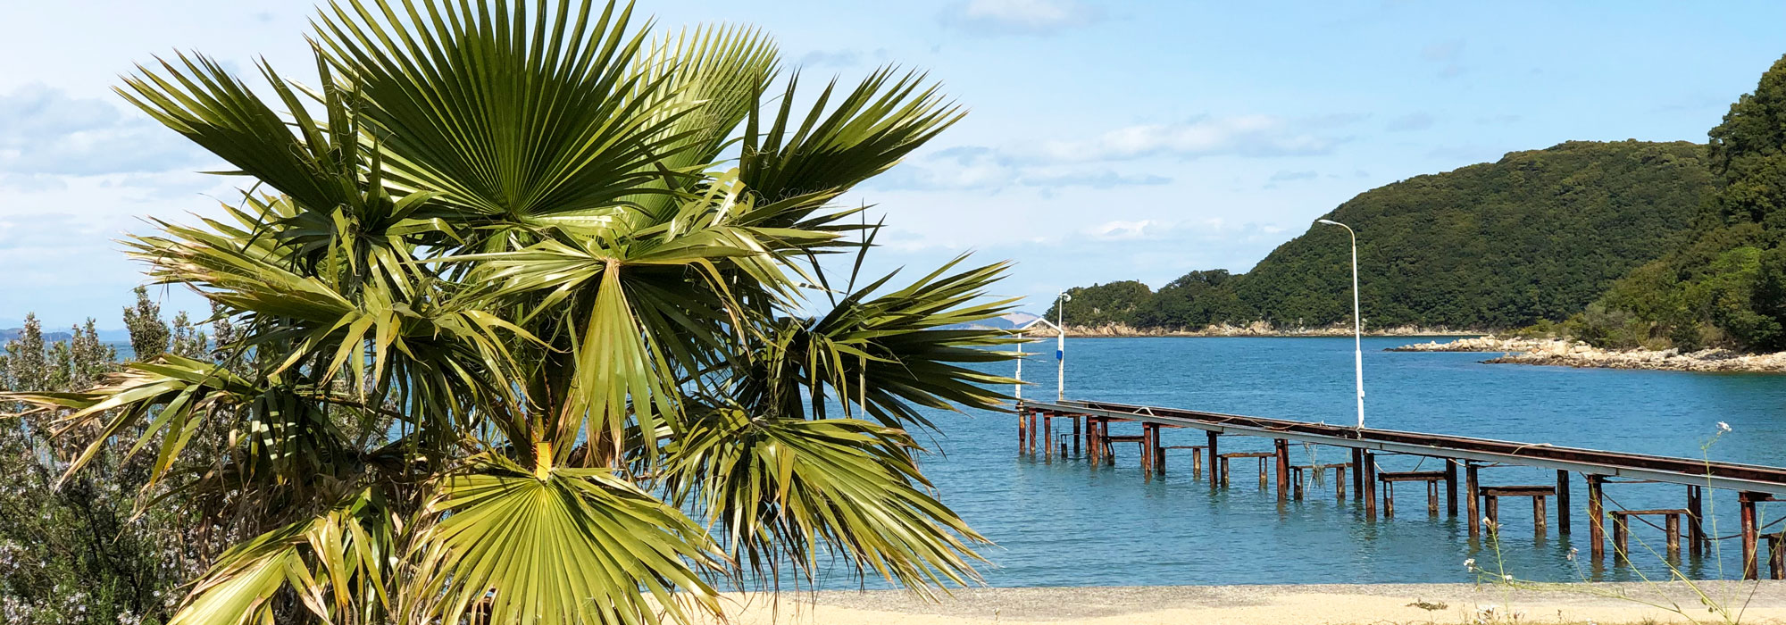
[[[1370,189],[1325,218],[1359,232],[1366,325],[1515,329],[1563,320],[1681,246],[1711,180],[1702,145],[1570,141]],[[1132,280],[1072,289],[1066,320],[1341,323],[1348,261],[1345,229],[1313,225],[1247,275],[1191,271],[1157,293]]]

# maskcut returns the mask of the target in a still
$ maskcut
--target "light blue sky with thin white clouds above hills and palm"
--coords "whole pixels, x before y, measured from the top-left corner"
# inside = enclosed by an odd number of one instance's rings
[[[752,23],[788,66],[927,71],[968,116],[857,188],[870,270],[973,252],[998,295],[1245,271],[1357,193],[1570,139],[1704,141],[1786,54],[1786,4],[638,0],[663,29]],[[196,50],[313,75],[311,2],[0,0],[0,329],[120,309],[125,234],[214,214],[239,184],[111,93]],[[809,84],[809,82],[807,82]],[[1359,232],[1368,238],[1368,232]],[[204,311],[157,289],[170,309]]]

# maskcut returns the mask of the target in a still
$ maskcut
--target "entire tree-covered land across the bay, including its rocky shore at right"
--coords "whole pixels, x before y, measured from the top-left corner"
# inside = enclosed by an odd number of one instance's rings
[[[1786,350],[1786,59],[1707,143],[1568,141],[1359,193],[1365,327],[1556,336],[1504,361],[1691,371],[1779,370]],[[1209,323],[1347,325],[1347,234],[1314,225],[1247,273],[1157,291],[1073,288],[1070,323],[1136,334]],[[1582,346],[1586,345],[1586,346]],[[1493,348],[1502,350],[1502,348]]]

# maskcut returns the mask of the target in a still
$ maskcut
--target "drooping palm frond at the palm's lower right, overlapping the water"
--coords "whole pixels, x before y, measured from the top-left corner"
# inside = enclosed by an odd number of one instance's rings
[[[841,555],[854,575],[875,573],[929,593],[977,582],[982,543],[911,457],[911,438],[859,420],[752,418],[722,409],[686,432],[670,464],[672,493],[693,495],[730,555],[779,586],[791,564],[813,584],[818,559]]]

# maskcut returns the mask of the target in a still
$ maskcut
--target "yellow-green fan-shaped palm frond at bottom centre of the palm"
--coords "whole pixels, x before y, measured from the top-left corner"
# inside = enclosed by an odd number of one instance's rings
[[[550,452],[541,454],[550,457]],[[718,554],[691,520],[609,470],[543,462],[534,473],[491,457],[446,479],[423,538],[423,588],[445,588],[432,614],[455,623],[657,623],[663,609],[718,612],[702,580]]]

